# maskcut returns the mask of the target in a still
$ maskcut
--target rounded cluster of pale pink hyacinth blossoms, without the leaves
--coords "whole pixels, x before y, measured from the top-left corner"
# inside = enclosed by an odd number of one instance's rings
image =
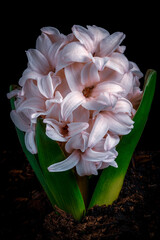
[[[36,48],[27,53],[28,66],[19,80],[11,118],[25,132],[25,144],[37,153],[38,117],[46,135],[57,141],[67,158],[49,166],[53,172],[76,167],[80,176],[117,167],[115,149],[133,128],[142,97],[138,66],[124,55],[122,32],[109,34],[97,26],[73,26],[69,35],[44,27]]]

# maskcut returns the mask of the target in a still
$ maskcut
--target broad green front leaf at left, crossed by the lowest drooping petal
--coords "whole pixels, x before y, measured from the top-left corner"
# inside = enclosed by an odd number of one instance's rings
[[[36,126],[36,143],[39,163],[51,193],[59,208],[80,220],[85,212],[85,204],[72,170],[65,172],[49,172],[48,167],[65,159],[57,142],[45,134],[45,124],[38,119]]]

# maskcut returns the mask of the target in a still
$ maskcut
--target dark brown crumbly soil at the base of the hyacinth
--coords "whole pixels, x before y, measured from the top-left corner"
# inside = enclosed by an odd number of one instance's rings
[[[160,151],[136,151],[118,200],[81,222],[53,210],[19,147],[3,150],[0,171],[2,240],[159,239]]]

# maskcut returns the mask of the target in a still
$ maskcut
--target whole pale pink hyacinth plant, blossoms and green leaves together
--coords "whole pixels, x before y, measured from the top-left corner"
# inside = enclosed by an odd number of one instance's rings
[[[148,118],[156,72],[124,55],[122,32],[44,27],[11,86],[11,119],[53,207],[80,220],[115,201]],[[93,182],[94,186],[93,187]]]

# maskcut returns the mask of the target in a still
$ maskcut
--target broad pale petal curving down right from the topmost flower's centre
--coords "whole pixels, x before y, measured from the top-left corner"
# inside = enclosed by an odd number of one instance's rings
[[[119,72],[120,74],[124,74],[129,70],[128,59],[124,54],[118,52],[114,52],[110,55],[105,66]]]

